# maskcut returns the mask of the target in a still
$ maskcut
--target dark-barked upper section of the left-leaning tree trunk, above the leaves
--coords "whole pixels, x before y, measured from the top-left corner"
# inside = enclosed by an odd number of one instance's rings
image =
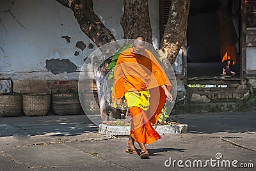
[[[100,21],[93,11],[92,0],[56,0],[58,3],[74,11],[74,16],[81,30],[100,47],[115,41],[113,34]]]

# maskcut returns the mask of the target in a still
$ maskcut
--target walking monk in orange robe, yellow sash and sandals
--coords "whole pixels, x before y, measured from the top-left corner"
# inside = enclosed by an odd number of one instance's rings
[[[151,123],[157,123],[166,100],[172,101],[172,84],[157,62],[154,55],[146,49],[143,37],[138,37],[120,54],[114,71],[112,99],[117,106],[125,97],[131,114],[131,130],[126,152],[140,154],[148,158],[145,144],[158,140],[160,135]],[[134,142],[140,145],[140,153]]]

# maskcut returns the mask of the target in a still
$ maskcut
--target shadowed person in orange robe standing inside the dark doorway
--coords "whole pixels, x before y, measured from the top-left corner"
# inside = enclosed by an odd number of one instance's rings
[[[221,45],[221,63],[223,65],[223,75],[235,75],[234,71],[230,71],[230,64],[236,64],[236,42],[238,40],[236,29],[233,24],[234,15],[228,7],[229,0],[220,0],[220,9],[218,10],[218,16],[220,21],[220,45]]]

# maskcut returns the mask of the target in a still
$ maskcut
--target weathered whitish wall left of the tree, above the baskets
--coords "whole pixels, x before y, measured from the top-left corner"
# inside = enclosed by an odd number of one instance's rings
[[[0,13],[1,72],[47,71],[45,61],[54,58],[81,66],[84,56],[92,52],[88,49],[92,41],[81,32],[70,9],[51,0],[5,2],[1,2]],[[61,36],[70,36],[70,43]],[[77,41],[87,45],[83,52],[76,48]],[[74,56],[76,50],[79,56]]]

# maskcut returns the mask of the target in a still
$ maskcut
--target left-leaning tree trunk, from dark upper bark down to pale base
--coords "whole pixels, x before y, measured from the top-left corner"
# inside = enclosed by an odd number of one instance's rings
[[[102,45],[115,41],[113,34],[107,29],[100,21],[99,17],[93,11],[92,0],[56,0],[58,3],[63,4],[67,8],[74,11],[74,16],[79,23],[79,26],[83,33],[85,33],[96,45],[101,47]],[[115,43],[117,45],[117,43]],[[102,52],[105,54],[106,52]],[[100,103],[100,116],[102,121],[108,119],[109,113],[113,113],[109,108],[109,104],[104,98],[102,92],[102,83],[106,77],[106,73],[101,71],[102,68],[94,68],[95,80],[98,90],[98,98]]]

